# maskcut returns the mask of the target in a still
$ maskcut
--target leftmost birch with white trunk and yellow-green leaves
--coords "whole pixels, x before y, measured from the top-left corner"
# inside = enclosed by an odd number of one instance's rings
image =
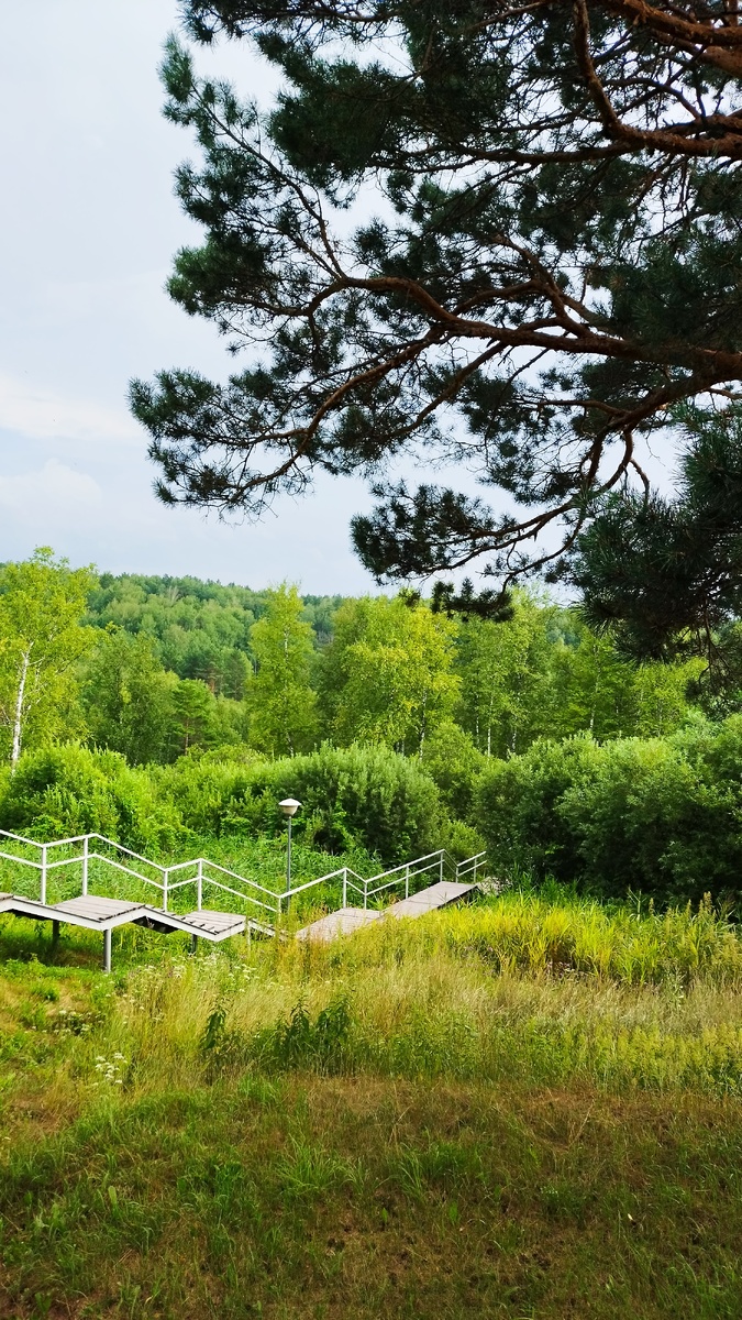
[[[82,729],[74,671],[94,642],[81,623],[94,581],[46,548],[0,572],[0,721],[13,768],[26,744]]]

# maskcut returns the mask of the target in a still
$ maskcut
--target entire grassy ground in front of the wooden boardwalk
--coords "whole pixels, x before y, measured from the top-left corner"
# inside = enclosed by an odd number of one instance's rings
[[[1,1316],[742,1315],[742,946],[709,909],[98,952],[0,927]]]

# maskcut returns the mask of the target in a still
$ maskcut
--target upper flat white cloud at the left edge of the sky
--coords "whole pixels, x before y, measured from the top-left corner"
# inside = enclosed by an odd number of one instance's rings
[[[28,440],[129,440],[140,437],[128,413],[83,399],[65,399],[0,375],[0,430]]]

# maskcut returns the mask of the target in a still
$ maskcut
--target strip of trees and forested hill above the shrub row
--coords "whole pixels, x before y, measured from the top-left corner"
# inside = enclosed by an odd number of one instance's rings
[[[700,660],[636,668],[578,611],[525,591],[503,622],[454,620],[404,593],[302,599],[288,585],[99,578],[48,549],[0,570],[0,647],[11,764],[71,739],[131,764],[322,742],[424,762],[448,747],[466,762],[580,731],[665,735],[704,692]]]

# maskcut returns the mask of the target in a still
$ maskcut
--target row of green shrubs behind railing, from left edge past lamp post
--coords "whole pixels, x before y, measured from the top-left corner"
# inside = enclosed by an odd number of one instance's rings
[[[34,838],[98,832],[148,855],[198,834],[277,834],[298,797],[297,837],[330,853],[359,845],[387,863],[441,846],[433,780],[386,747],[323,747],[265,760],[231,748],[133,770],[119,752],[77,744],[24,758],[0,780],[0,828]],[[450,830],[449,830],[450,833]]]

